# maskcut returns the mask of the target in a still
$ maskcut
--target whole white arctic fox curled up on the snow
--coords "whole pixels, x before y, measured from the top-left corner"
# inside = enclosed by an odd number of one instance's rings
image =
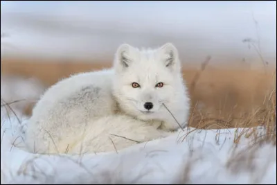
[[[169,136],[186,126],[189,110],[173,44],[122,44],[111,69],[75,74],[45,92],[30,117],[26,146],[44,154],[121,150]]]

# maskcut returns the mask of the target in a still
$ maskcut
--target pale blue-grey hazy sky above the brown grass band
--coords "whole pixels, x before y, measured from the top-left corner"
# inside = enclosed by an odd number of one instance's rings
[[[17,47],[1,47],[7,55],[111,55],[123,42],[252,55],[242,40],[259,36],[276,58],[276,1],[1,1],[1,33]]]

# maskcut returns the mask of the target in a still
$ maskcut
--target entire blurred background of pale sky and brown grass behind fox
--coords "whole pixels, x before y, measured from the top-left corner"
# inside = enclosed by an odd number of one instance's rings
[[[120,44],[166,42],[193,109],[244,114],[276,88],[276,1],[1,1],[1,101],[30,115],[57,80],[110,67]]]

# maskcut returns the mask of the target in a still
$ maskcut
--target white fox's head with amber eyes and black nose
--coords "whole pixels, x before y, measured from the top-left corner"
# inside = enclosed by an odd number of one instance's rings
[[[142,120],[162,119],[184,93],[178,51],[167,43],[158,49],[122,44],[114,60],[114,96],[123,111]],[[174,107],[174,106],[173,106]]]

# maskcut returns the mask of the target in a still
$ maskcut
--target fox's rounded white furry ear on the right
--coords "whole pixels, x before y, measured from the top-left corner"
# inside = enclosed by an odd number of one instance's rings
[[[176,47],[173,44],[164,44],[160,47],[160,51],[163,55],[163,62],[165,62],[166,67],[175,70],[180,69],[179,54]]]

